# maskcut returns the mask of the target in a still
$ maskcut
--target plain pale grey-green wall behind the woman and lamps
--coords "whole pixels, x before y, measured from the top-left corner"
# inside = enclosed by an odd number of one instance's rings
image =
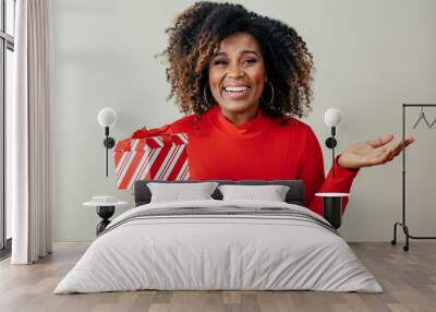
[[[167,44],[165,28],[193,1],[53,0],[53,239],[95,237],[98,217],[82,202],[114,194],[113,160],[105,176],[100,108],[119,113],[116,140],[182,115],[167,103],[165,65],[154,55]],[[324,112],[338,107],[339,149],[384,133],[401,134],[402,103],[436,103],[436,1],[240,1],[247,9],[292,25],[315,59],[313,113],[303,119],[317,133],[326,170],[330,151]],[[408,132],[417,118],[408,112]],[[431,120],[436,108],[427,110]],[[412,120],[413,119],[413,120]],[[434,235],[436,137],[415,130],[408,153],[408,212],[413,235]],[[396,137],[396,139],[397,139]],[[342,235],[350,241],[391,239],[401,216],[401,161],[361,169],[354,180]],[[118,213],[123,209],[118,211]]]

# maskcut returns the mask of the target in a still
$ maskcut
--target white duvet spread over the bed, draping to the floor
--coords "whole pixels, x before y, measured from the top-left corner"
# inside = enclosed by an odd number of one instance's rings
[[[286,207],[261,201],[150,203],[112,220],[59,283],[55,293],[159,290],[320,290],[382,292],[347,242],[326,228],[280,216],[167,216],[132,219],[142,209]],[[117,226],[118,225],[118,226]]]

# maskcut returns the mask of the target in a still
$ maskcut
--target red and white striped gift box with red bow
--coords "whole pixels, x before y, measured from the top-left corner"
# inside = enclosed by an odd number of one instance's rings
[[[131,189],[136,180],[189,180],[186,133],[141,129],[113,149],[117,187]]]

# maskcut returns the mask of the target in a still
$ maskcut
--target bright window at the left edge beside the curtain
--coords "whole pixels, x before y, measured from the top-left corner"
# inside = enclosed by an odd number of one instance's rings
[[[15,0],[0,0],[0,257],[10,252],[11,212],[5,205],[5,113],[12,100]]]

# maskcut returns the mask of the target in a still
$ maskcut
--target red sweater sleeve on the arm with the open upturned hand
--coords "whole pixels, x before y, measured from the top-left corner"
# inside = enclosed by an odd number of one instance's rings
[[[359,172],[359,169],[347,169],[339,166],[339,156],[340,154],[335,157],[335,177],[330,169],[325,178],[323,152],[315,133],[308,128],[300,158],[298,179],[304,180],[305,206],[319,215],[323,215],[323,199],[315,196],[315,193],[350,193],[351,184]],[[344,197],[342,211],[346,209],[347,203],[348,199]]]

